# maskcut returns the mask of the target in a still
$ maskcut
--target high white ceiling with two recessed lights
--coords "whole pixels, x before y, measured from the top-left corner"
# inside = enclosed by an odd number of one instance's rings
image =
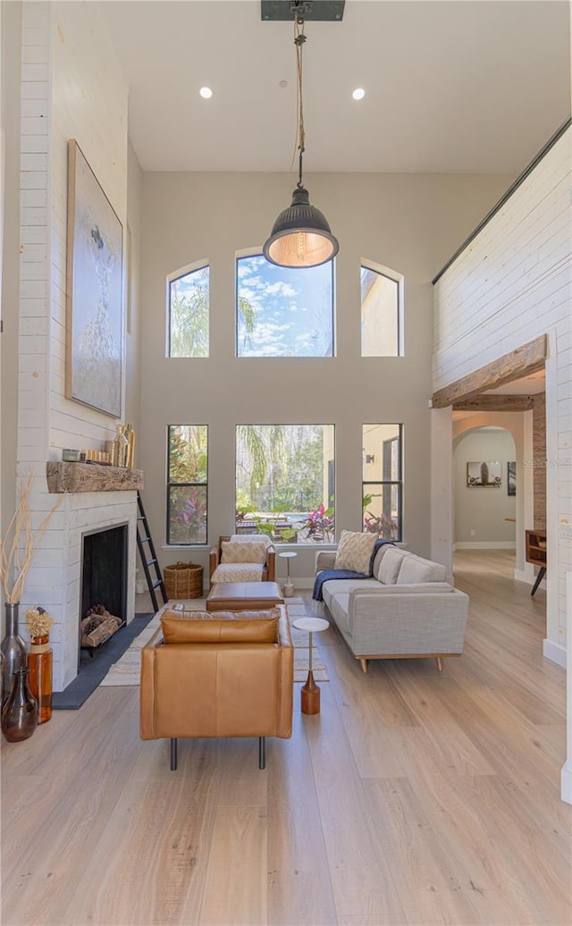
[[[99,8],[143,169],[290,169],[292,23],[258,0]],[[569,114],[568,17],[566,0],[346,0],[342,23],[308,21],[305,170],[518,173]]]

